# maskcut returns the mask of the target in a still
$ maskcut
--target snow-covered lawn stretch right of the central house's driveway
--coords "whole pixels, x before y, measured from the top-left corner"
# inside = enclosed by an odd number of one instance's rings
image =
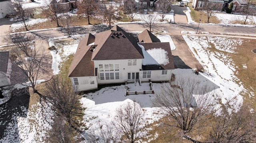
[[[236,102],[242,102],[242,93],[252,94],[234,75],[236,67],[228,55],[234,53],[234,49],[242,44],[242,39],[191,35],[183,35],[183,38],[196,59],[204,65],[206,72],[202,75],[220,87],[218,94],[222,97],[222,102],[235,97]]]

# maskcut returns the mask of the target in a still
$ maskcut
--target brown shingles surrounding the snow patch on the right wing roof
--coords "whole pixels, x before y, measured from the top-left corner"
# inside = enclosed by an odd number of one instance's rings
[[[168,59],[169,63],[167,65],[142,65],[142,70],[143,71],[148,71],[148,70],[169,70],[169,69],[174,69],[174,62],[172,60],[172,51],[170,48],[170,43],[169,42],[164,42],[164,43],[140,43],[145,50],[149,49],[154,49],[154,48],[162,48],[168,53]]]

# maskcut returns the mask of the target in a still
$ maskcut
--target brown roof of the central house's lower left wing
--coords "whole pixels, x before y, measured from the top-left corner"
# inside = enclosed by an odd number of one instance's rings
[[[79,42],[68,77],[95,76],[94,62],[91,60],[92,51],[90,51],[94,45],[88,45],[92,42],[92,36],[89,33]]]

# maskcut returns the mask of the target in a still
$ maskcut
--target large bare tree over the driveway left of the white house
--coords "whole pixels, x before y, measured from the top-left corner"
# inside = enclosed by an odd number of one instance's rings
[[[42,79],[43,73],[47,73],[50,69],[48,61],[51,57],[45,54],[43,50],[34,49],[34,42],[32,41],[34,38],[34,36],[21,33],[8,33],[5,41],[14,44],[10,50],[10,57],[12,57],[12,64],[20,70],[20,78],[25,76],[30,82],[23,85],[32,87],[34,92],[41,95],[36,90],[36,80]]]

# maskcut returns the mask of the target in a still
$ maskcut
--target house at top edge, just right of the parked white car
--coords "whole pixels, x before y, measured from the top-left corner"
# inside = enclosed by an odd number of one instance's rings
[[[228,2],[228,0],[193,0],[192,8],[200,10],[204,8],[206,5],[205,3],[213,3],[220,5],[219,8],[222,10],[226,2]]]

